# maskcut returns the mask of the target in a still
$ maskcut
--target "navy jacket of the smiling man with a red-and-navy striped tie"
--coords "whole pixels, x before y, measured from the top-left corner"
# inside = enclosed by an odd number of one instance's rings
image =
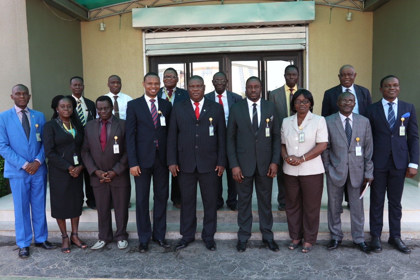
[[[166,166],[166,138],[171,119],[171,102],[157,97],[158,111],[165,117],[166,126],[160,125],[160,114],[157,116],[157,128],[147,106],[146,95],[127,103],[126,142],[129,166],[142,168],[152,167],[156,156],[156,140],[159,145],[159,156]]]

